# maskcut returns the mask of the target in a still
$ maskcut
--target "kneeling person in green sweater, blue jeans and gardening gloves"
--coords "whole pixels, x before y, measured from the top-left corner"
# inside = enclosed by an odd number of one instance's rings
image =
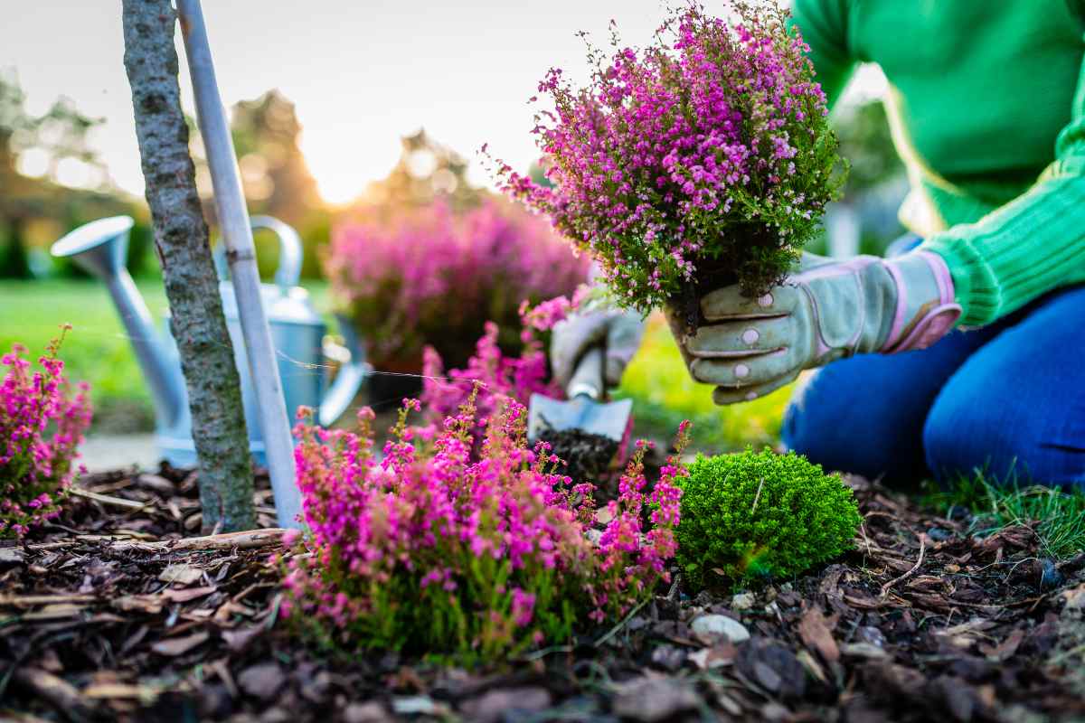
[[[888,77],[914,241],[709,293],[678,334],[693,378],[730,404],[824,366],[782,437],[829,468],[1085,481],[1085,2],[796,0],[793,21],[830,104],[859,62]],[[603,339],[616,384],[639,340],[617,312],[556,331],[559,377]]]

